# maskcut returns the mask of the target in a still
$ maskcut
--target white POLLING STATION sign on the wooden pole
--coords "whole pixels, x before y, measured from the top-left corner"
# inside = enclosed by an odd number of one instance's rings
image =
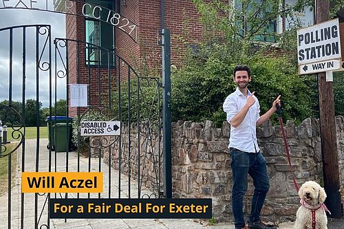
[[[297,30],[297,44],[299,65],[341,59],[338,19]]]

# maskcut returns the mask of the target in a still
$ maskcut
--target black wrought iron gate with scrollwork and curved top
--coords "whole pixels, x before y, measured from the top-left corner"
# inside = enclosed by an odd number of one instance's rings
[[[18,40],[14,36],[20,38],[20,44],[14,43]],[[0,84],[1,90],[8,92],[7,98],[3,98],[8,102],[0,105],[0,111],[6,110],[3,113],[7,116],[1,120],[8,126],[8,139],[11,139],[11,144],[1,145],[0,155],[1,160],[8,160],[8,188],[0,196],[1,220],[6,221],[8,228],[50,228],[47,212],[50,197],[158,198],[164,195],[160,78],[140,76],[116,53],[97,45],[71,39],[52,41],[50,25],[2,28],[0,38],[1,42],[8,43],[8,50],[0,50],[0,56],[8,60],[9,73],[1,76]],[[75,56],[69,47],[76,47]],[[85,56],[80,53],[89,57],[91,51],[107,56],[108,65],[100,65],[99,61],[86,63],[87,72],[80,71],[79,66],[85,65]],[[72,59],[76,65],[71,67]],[[82,75],[87,75],[86,81],[81,80]],[[70,93],[72,77],[78,85],[87,85],[87,107],[70,107],[75,96]],[[47,123],[41,105],[47,102],[49,116],[55,117],[54,105],[61,98],[61,91],[67,104],[65,116],[72,113],[73,120],[65,118],[58,124],[57,118],[48,118]],[[25,121],[32,116],[32,107],[29,113],[25,105],[28,99],[34,101],[34,139],[28,139]],[[80,135],[82,120],[120,121],[121,134],[85,138]],[[39,127],[46,123],[48,138],[42,139]],[[62,141],[66,146],[62,151],[53,147],[61,141],[57,131],[63,131]],[[69,141],[72,138],[74,141]],[[21,193],[23,171],[101,171],[106,182],[103,193],[97,194]]]

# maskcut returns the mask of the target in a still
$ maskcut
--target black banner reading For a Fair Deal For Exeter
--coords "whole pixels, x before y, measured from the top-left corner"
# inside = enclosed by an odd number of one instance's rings
[[[211,199],[50,199],[51,219],[210,219]]]

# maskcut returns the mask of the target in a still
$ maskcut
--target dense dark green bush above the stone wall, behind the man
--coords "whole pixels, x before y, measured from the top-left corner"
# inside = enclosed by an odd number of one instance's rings
[[[233,67],[235,60],[209,58],[204,65],[196,63],[181,69],[172,76],[173,121],[213,120],[217,126],[226,120],[222,105],[226,96],[235,91]],[[252,70],[250,91],[256,91],[261,113],[272,106],[281,94],[283,118],[301,122],[312,116],[312,94],[308,79],[298,76],[294,65],[286,57],[274,58],[257,55],[243,63]],[[302,98],[302,99],[301,99]]]

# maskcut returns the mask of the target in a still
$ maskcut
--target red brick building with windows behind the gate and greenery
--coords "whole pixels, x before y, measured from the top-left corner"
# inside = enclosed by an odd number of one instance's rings
[[[285,6],[293,3],[294,0],[283,1]],[[171,64],[176,66],[180,65],[181,51],[186,47],[178,37],[182,36],[184,42],[191,47],[195,47],[202,39],[200,14],[189,0],[59,0],[56,6],[61,11],[73,12],[66,16],[67,39],[85,41],[111,50],[143,75],[157,75],[161,72],[159,29],[171,30]],[[303,18],[305,25],[314,21],[311,10],[306,10],[299,17]],[[273,32],[280,33],[288,28],[288,18],[279,18],[271,23]],[[109,72],[116,75],[116,70],[122,67],[113,54],[96,51],[87,45],[68,45],[69,83],[89,84],[90,98],[94,98],[103,87],[109,85],[108,80],[99,82],[99,77],[93,77],[94,75],[106,76]],[[111,67],[110,71],[108,66]],[[144,72],[144,69],[148,69],[148,72]],[[92,77],[89,78],[89,75]],[[122,75],[121,78],[126,77]],[[89,105],[92,103],[96,105],[99,101],[90,100]],[[75,108],[69,111],[72,115],[75,112]]]

